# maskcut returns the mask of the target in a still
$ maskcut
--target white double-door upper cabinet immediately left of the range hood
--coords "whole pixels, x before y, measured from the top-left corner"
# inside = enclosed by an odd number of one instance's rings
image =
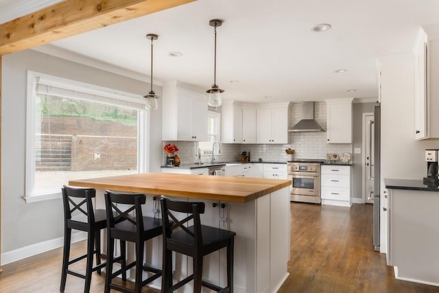
[[[259,104],[256,114],[257,143],[289,143],[289,102]]]

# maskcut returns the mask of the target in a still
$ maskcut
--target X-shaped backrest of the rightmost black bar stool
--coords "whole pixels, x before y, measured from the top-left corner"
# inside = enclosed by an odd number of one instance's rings
[[[183,202],[173,200],[166,196],[161,196],[163,237],[166,241],[171,237],[172,231],[176,228],[185,231],[189,237],[193,238],[194,246],[202,247],[202,231],[200,214],[204,213],[204,202]],[[177,213],[189,214],[186,218],[178,220]],[[193,231],[187,228],[187,223],[193,220]]]

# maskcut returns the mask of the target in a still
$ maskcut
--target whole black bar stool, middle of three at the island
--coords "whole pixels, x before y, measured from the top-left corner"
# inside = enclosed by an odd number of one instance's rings
[[[115,289],[121,292],[140,293],[143,286],[162,275],[162,271],[157,268],[143,266],[144,243],[162,234],[162,220],[143,216],[141,205],[145,204],[145,194],[122,194],[107,190],[104,196],[107,213],[108,251],[104,292],[109,293],[110,289]],[[124,204],[123,211],[117,204]],[[131,212],[134,212],[134,216],[130,215]],[[136,260],[129,264],[123,263],[119,270],[112,272],[112,265],[115,262],[113,256],[115,239],[121,241],[121,250],[125,250],[127,241],[134,242],[136,245]],[[126,271],[134,266],[136,267],[134,290],[112,283],[112,279],[121,273],[126,274]],[[154,274],[143,281],[143,270]]]

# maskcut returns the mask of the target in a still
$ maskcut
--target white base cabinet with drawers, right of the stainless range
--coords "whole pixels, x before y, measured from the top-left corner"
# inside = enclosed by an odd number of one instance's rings
[[[351,166],[322,165],[322,204],[351,207]]]

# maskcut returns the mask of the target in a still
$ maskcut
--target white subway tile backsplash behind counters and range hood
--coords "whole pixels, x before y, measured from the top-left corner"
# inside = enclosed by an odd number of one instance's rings
[[[292,128],[302,117],[302,105],[300,103],[292,104],[292,117],[290,117],[289,128]],[[327,106],[325,102],[314,102],[314,119],[318,121],[324,130],[327,128]],[[327,153],[336,153],[342,155],[344,152],[352,154],[353,146],[351,143],[327,143],[326,132],[289,132],[289,144],[233,144],[223,143],[221,145],[221,154],[215,155],[215,161],[230,162],[238,161],[241,152],[250,152],[250,160],[285,162],[287,154],[285,149],[292,148],[296,150],[294,158],[296,159],[326,159]],[[191,141],[163,141],[163,146],[167,143],[174,143],[180,149],[178,156],[182,164],[195,163],[198,161],[196,156],[198,143]],[[166,153],[163,152],[163,163],[166,159]],[[202,156],[204,163],[210,162],[211,156]]]

